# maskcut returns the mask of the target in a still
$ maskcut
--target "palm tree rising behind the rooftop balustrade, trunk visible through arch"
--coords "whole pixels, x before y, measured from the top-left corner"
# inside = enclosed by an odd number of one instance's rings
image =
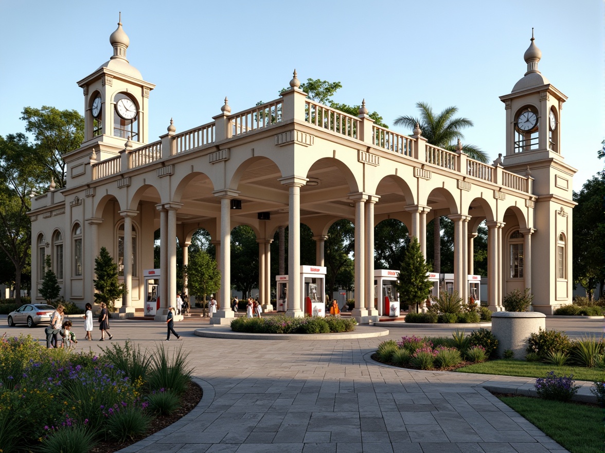
[[[451,106],[445,108],[441,113],[435,114],[430,104],[426,102],[416,102],[416,107],[420,111],[420,118],[413,116],[399,116],[394,121],[396,126],[407,126],[409,128],[419,125],[422,130],[422,136],[427,139],[428,143],[446,150],[455,151],[458,139],[463,139],[464,135],[460,130],[471,127],[473,121],[468,118],[455,118],[454,115],[458,112],[458,108]],[[462,151],[468,154],[471,159],[479,160],[486,164],[488,156],[485,151],[480,150],[475,145],[465,144],[462,146]],[[433,271],[441,272],[441,222],[440,217],[435,216],[433,223]]]

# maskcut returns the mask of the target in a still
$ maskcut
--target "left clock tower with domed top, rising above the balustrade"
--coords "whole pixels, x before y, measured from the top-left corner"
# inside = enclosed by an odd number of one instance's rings
[[[96,71],[77,84],[84,93],[85,138],[82,147],[97,144],[95,151],[124,148],[126,140],[137,147],[148,142],[149,91],[155,85],[145,82],[137,68],[126,59],[130,39],[122,21],[111,33],[113,55]]]

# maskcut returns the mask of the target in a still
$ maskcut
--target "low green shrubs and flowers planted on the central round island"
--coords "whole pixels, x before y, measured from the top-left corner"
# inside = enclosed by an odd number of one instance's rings
[[[352,332],[357,321],[355,318],[325,318],[306,316],[291,318],[287,316],[271,316],[264,318],[235,318],[231,322],[231,330],[249,334],[329,334],[335,332]]]

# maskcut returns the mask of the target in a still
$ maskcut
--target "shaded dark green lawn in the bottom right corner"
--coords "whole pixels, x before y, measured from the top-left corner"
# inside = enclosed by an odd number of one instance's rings
[[[521,396],[499,396],[571,453],[603,452],[603,409],[598,406]]]

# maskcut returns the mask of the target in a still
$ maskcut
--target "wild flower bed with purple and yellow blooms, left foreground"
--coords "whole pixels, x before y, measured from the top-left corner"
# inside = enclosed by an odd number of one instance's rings
[[[188,388],[191,369],[180,349],[169,357],[163,348],[149,354],[126,342],[103,352],[46,349],[31,336],[3,336],[2,451],[81,452],[99,441],[135,438],[165,412],[166,400],[180,400]]]

